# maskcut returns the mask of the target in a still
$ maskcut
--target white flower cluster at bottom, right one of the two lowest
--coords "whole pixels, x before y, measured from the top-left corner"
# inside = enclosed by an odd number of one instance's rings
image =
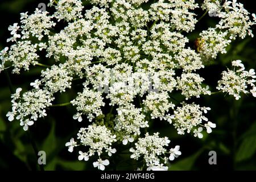
[[[159,133],[154,135],[149,135],[146,133],[144,138],[139,138],[138,142],[135,143],[135,149],[130,148],[132,159],[138,160],[140,157],[143,157],[146,162],[147,171],[167,171],[168,167],[164,166],[168,162],[166,154],[170,154],[169,159],[174,160],[181,155],[179,151],[179,146],[171,148],[168,152],[165,147],[169,145],[171,141],[167,138],[160,138]]]

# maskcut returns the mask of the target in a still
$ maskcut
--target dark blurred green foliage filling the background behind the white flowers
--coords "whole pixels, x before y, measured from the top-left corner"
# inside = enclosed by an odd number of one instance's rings
[[[0,29],[0,49],[6,46],[6,39],[9,38],[7,27],[19,21],[19,13],[23,11],[32,12],[39,3],[48,0],[1,0],[0,14],[2,17]],[[253,1],[240,1],[245,4],[245,8],[251,13],[254,10]],[[203,12],[199,12],[199,16]],[[190,36],[191,45],[201,30],[209,26],[214,26],[216,20],[205,16],[196,30]],[[254,31],[256,34],[256,31]],[[189,45],[189,46],[191,46]],[[220,55],[213,64],[203,69],[200,74],[205,77],[206,84],[212,90],[216,87],[220,73],[230,67],[230,61],[241,59],[245,67],[256,68],[256,43],[255,38],[236,40],[228,47],[226,55]],[[16,87],[21,86],[28,89],[28,82],[39,77],[42,68],[32,68],[20,76],[11,75],[11,80]],[[0,169],[36,170],[39,169],[36,155],[26,132],[22,130],[18,122],[9,122],[5,117],[10,110],[10,91],[5,74],[0,75]],[[59,94],[56,103],[70,101],[76,96],[69,90],[65,94]],[[174,96],[176,100],[182,100],[179,96]],[[243,96],[241,100],[217,94],[210,97],[201,97],[195,100],[201,105],[209,106],[212,110],[208,114],[210,121],[217,123],[217,128],[212,134],[205,134],[203,139],[196,139],[192,135],[177,135],[174,128],[168,123],[155,121],[152,123],[150,133],[159,131],[160,135],[171,139],[171,146],[179,144],[182,155],[175,162],[170,164],[170,170],[255,170],[256,169],[256,119],[255,98]],[[65,148],[65,142],[71,137],[75,137],[80,127],[84,123],[77,123],[72,119],[74,110],[71,106],[56,107],[48,110],[45,119],[39,119],[31,127],[30,135],[35,140],[38,150],[46,151],[46,170],[92,170],[92,160],[80,162],[77,155],[70,154]],[[128,146],[129,147],[129,146]],[[129,160],[127,148],[118,148],[117,155],[112,159],[114,163],[109,169],[136,169],[136,162]],[[217,152],[217,165],[209,165],[209,151]],[[112,161],[110,162],[112,163]]]

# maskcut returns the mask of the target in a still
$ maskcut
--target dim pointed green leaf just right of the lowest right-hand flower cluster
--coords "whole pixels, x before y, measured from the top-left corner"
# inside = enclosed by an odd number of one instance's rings
[[[192,169],[193,164],[196,162],[196,159],[204,151],[204,148],[197,151],[195,154],[189,156],[188,158],[181,159],[178,162],[170,165],[170,171],[189,171]]]

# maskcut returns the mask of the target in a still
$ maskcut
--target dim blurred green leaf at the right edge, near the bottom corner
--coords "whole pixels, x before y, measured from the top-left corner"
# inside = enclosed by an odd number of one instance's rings
[[[256,135],[251,135],[243,139],[236,154],[236,162],[250,159],[256,151]]]

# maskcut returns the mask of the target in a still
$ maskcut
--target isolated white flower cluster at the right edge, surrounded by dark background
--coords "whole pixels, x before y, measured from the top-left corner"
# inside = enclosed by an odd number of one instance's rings
[[[251,93],[256,97],[254,69],[245,71],[245,66],[241,60],[232,61],[232,66],[234,67],[233,70],[228,69],[228,71],[221,73],[222,78],[218,81],[217,89],[234,96],[236,100],[241,98],[241,93]]]

